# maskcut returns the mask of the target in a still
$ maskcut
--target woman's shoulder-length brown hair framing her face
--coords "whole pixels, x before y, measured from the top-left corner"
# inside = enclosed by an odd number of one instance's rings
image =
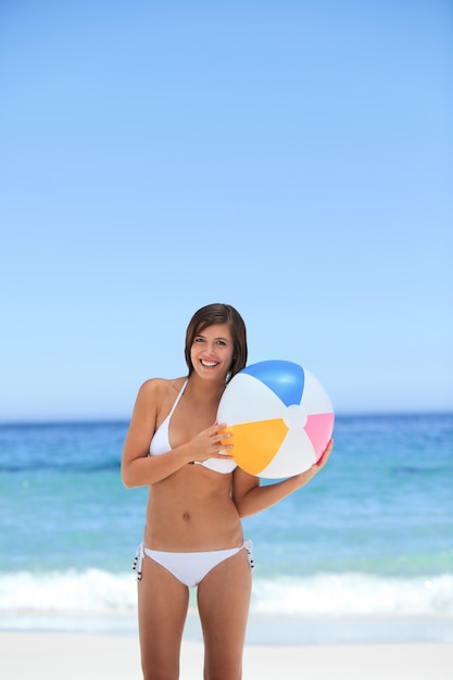
[[[239,312],[230,304],[207,304],[196,312],[189,322],[186,331],[186,364],[189,368],[189,377],[193,373],[193,364],[190,358],[190,348],[194,338],[209,326],[214,324],[228,324],[232,336],[234,351],[232,362],[227,375],[227,382],[247,364],[247,330],[246,324]]]

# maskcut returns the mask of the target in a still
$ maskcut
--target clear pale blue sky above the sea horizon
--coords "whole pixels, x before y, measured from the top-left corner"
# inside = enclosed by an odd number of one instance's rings
[[[450,0],[1,0],[0,421],[128,418],[211,302],[452,410],[452,76]]]

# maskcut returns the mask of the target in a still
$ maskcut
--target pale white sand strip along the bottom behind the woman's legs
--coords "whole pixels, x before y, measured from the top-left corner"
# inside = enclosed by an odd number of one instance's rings
[[[141,678],[134,637],[0,633],[8,680]],[[202,680],[202,645],[184,642],[180,680]],[[453,680],[453,645],[255,646],[244,651],[243,680]]]

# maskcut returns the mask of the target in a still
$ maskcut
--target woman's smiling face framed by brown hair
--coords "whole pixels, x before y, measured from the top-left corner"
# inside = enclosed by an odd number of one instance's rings
[[[207,326],[193,338],[190,349],[193,370],[202,378],[225,380],[234,350],[228,324]]]

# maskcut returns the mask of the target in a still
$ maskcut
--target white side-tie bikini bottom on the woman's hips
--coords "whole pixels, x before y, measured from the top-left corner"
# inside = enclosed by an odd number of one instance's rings
[[[137,572],[137,580],[141,579],[141,567],[144,555],[153,559],[175,578],[188,588],[194,588],[203,578],[216,567],[221,562],[237,555],[239,551],[246,550],[249,557],[250,568],[253,569],[252,541],[244,541],[240,547],[228,547],[226,550],[211,550],[200,553],[167,553],[161,550],[150,550],[143,543],[137,549],[133,569]]]

